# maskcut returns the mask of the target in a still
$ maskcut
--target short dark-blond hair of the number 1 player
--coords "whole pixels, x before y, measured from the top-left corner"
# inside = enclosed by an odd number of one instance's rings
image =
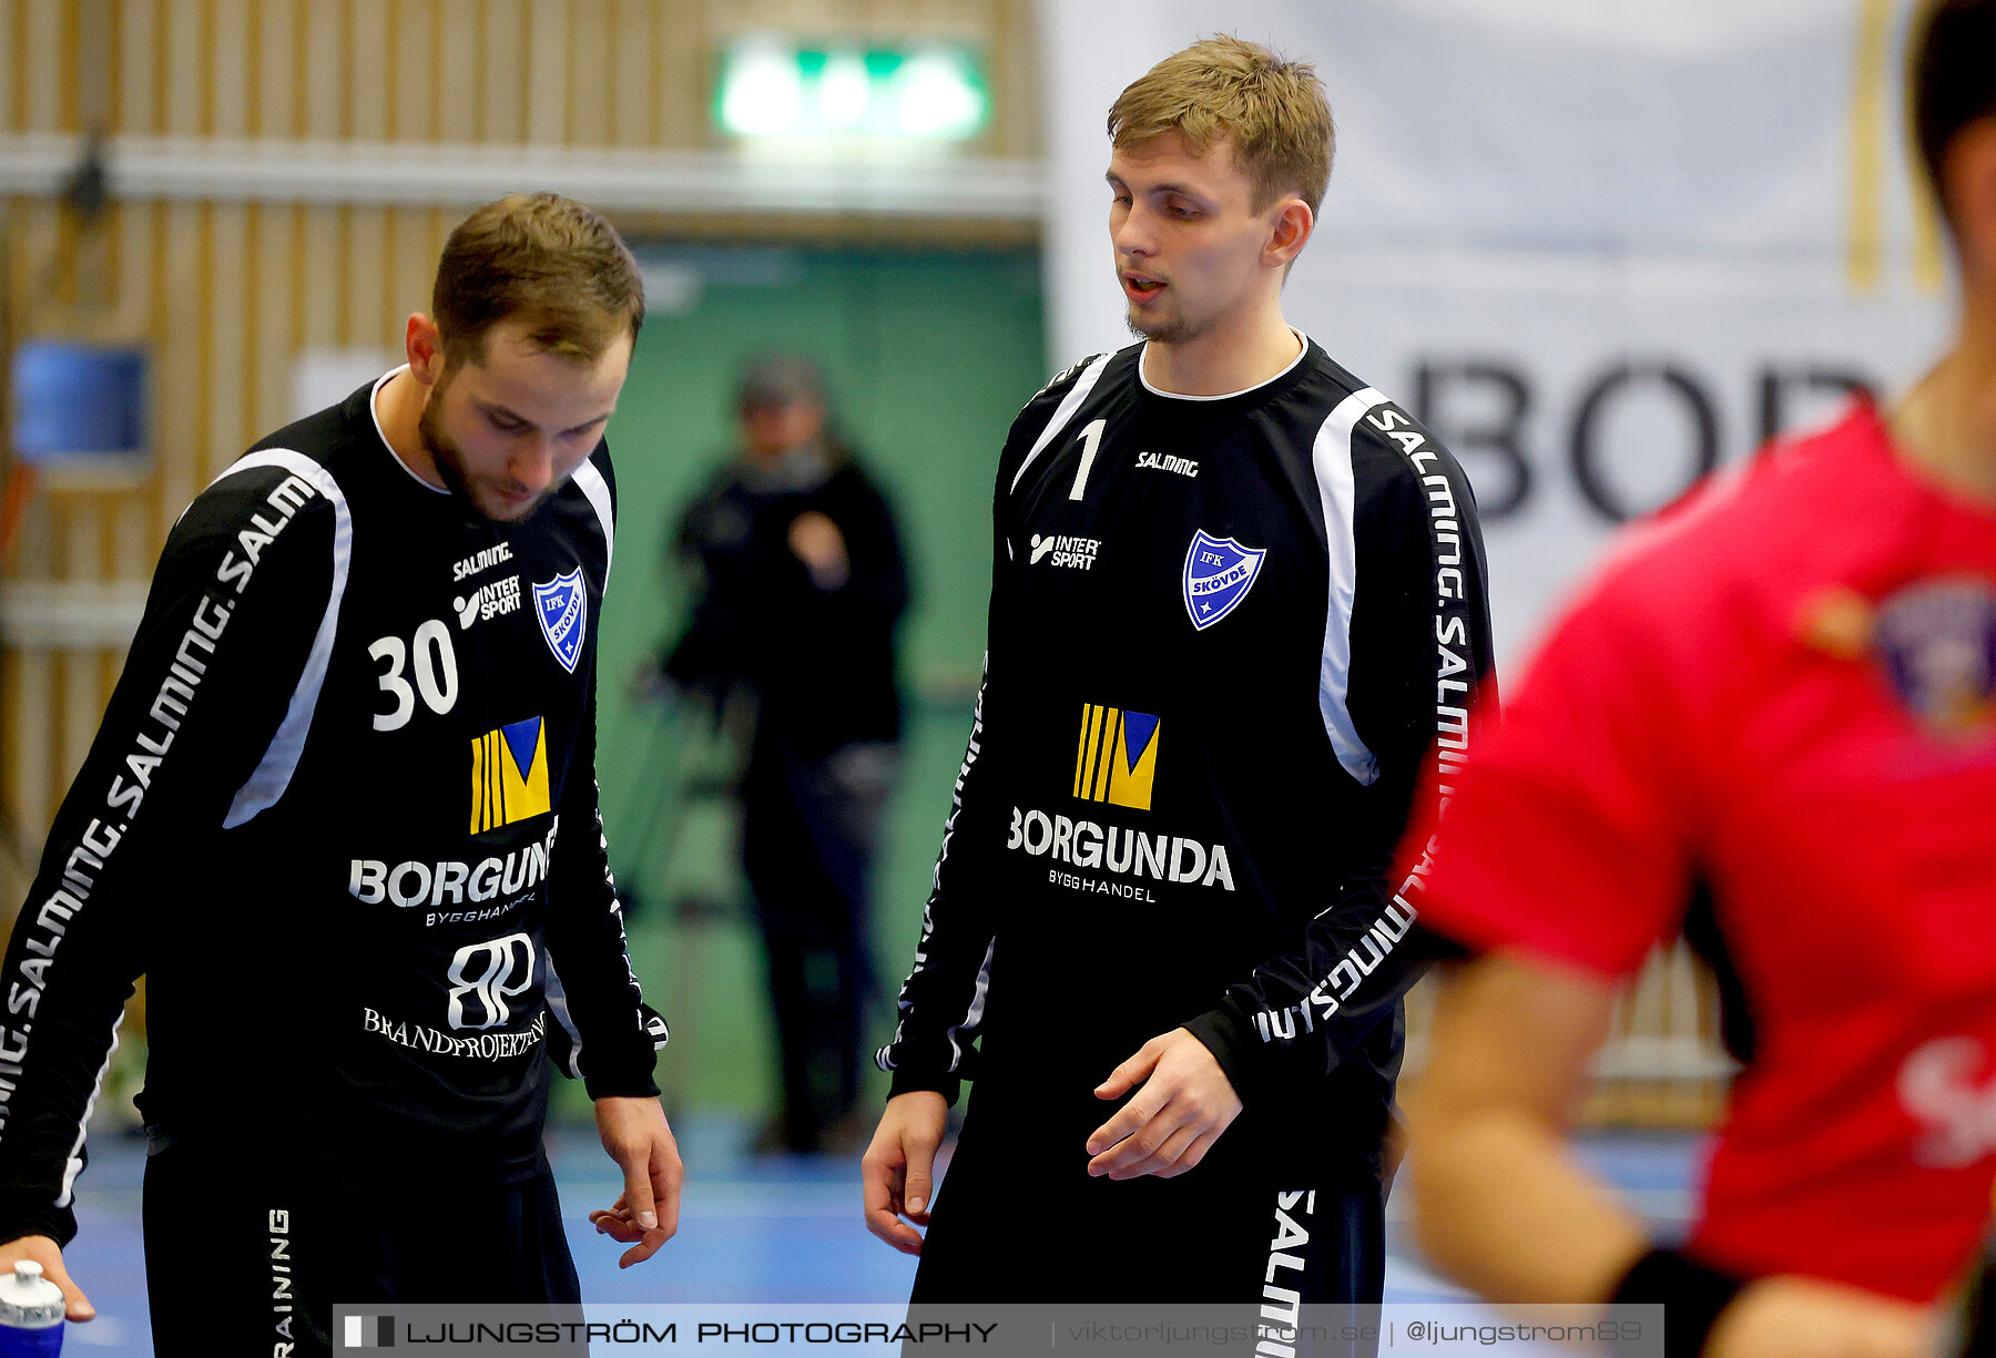
[[[1122,150],[1176,132],[1204,156],[1228,140],[1261,211],[1295,193],[1323,205],[1337,130],[1317,70],[1285,62],[1255,42],[1216,34],[1174,52],[1110,106],[1110,142]]]

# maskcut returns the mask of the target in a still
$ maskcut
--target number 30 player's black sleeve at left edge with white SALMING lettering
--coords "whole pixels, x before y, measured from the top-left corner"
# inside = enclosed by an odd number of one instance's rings
[[[8,947],[0,1236],[76,1232],[84,1125],[124,1003],[176,927],[216,927],[198,893],[220,863],[188,848],[255,796],[309,668],[337,532],[309,469],[265,463],[224,477],[168,538]],[[192,907],[166,905],[188,893]]]

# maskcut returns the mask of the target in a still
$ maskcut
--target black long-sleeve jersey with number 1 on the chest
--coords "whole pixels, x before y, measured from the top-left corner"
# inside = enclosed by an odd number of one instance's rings
[[[1214,399],[1140,359],[1062,373],[1006,441],[984,686],[878,1061],[896,1093],[1080,1089],[1078,1167],[1086,1091],[1186,1025],[1249,1109],[1377,1149],[1415,971],[1387,871],[1491,672],[1469,485],[1315,343]]]

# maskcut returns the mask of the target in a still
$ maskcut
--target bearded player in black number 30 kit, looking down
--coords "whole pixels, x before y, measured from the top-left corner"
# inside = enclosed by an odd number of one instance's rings
[[[72,1320],[84,1129],[142,973],[162,1354],[327,1354],[335,1302],[577,1302],[553,1065],[623,1171],[595,1212],[623,1262],[677,1228],[595,788],[603,431],[643,315],[595,211],[489,203],[407,365],[174,524],[0,977],[0,1270],[40,1260]]]

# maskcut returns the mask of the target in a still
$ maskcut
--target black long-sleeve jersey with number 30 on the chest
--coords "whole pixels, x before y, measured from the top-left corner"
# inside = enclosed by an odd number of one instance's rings
[[[0,975],[0,1238],[74,1234],[142,973],[140,1107],[170,1135],[517,1179],[551,1055],[595,1097],[657,1093],[597,814],[609,453],[489,522],[395,459],[379,385],[168,538]]]

